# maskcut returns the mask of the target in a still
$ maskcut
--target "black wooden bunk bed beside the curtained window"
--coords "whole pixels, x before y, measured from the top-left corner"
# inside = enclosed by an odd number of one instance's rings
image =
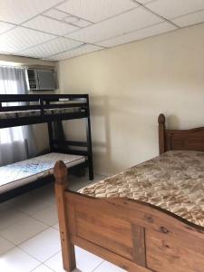
[[[17,103],[17,105],[16,105]],[[62,121],[84,119],[86,127],[86,141],[66,141],[63,134]],[[58,127],[57,135],[53,130],[53,122]],[[88,94],[1,94],[0,95],[0,129],[16,126],[24,126],[38,123],[47,123],[49,134],[49,149],[51,158],[39,156],[31,160],[24,160],[26,163],[34,165],[36,160],[56,160],[57,154],[64,157],[67,162],[67,167],[83,168],[88,167],[89,179],[93,179],[92,169],[92,135],[89,109]],[[55,130],[56,131],[56,130]],[[55,134],[55,135],[54,135]],[[69,154],[69,156],[61,156]],[[71,163],[69,161],[71,160]],[[65,162],[65,161],[64,161]],[[41,175],[40,179],[30,181],[12,182],[11,189],[3,189],[4,170],[21,170],[21,162],[13,163],[7,166],[0,167],[1,181],[0,182],[0,202],[6,199],[11,199],[19,194],[24,193],[29,189],[34,189],[44,183],[53,180],[53,168],[44,170],[46,175]],[[25,170],[26,171],[26,170]],[[21,175],[20,175],[21,176]],[[31,175],[32,176],[32,175]],[[38,173],[39,176],[39,173]],[[18,180],[15,180],[18,181]],[[19,180],[20,181],[20,180]],[[14,186],[13,186],[14,185]],[[2,190],[1,190],[2,188]],[[9,186],[8,186],[9,188]]]

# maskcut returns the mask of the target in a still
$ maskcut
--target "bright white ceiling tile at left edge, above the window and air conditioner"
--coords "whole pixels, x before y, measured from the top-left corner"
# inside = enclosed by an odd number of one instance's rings
[[[15,53],[30,46],[42,44],[54,38],[52,34],[44,34],[32,29],[17,26],[0,35],[0,51]]]

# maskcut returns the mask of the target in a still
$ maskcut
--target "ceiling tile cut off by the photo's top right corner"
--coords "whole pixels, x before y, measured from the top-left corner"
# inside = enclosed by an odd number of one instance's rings
[[[146,6],[153,12],[171,19],[204,9],[204,0],[157,0]]]

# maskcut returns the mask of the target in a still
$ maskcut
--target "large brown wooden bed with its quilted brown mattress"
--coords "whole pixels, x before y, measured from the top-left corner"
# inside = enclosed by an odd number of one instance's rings
[[[131,272],[204,271],[204,128],[166,130],[160,114],[159,145],[160,156],[79,192],[67,189],[57,161],[66,271],[75,268],[74,245]]]

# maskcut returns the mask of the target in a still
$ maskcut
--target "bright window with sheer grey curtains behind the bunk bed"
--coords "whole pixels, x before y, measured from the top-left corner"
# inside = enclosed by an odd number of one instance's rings
[[[0,66],[0,94],[26,92],[24,69]],[[0,129],[0,165],[25,160],[34,155],[36,149],[31,126]]]

